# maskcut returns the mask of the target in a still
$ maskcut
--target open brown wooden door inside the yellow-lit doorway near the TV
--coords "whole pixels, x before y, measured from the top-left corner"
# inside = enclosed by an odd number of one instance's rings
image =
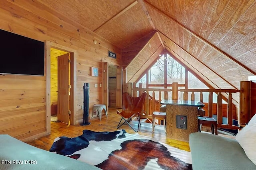
[[[58,56],[58,121],[69,124],[69,53]]]

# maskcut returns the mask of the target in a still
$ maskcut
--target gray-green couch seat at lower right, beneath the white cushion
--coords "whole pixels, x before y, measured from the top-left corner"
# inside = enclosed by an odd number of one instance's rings
[[[191,133],[193,170],[256,170],[235,139],[208,133]]]

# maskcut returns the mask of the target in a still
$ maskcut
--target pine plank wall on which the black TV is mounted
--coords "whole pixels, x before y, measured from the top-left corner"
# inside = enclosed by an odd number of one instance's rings
[[[91,115],[92,106],[103,102],[102,88],[92,84],[102,83],[102,62],[120,65],[120,49],[38,1],[2,0],[0,18],[0,29],[77,51],[75,114],[82,121],[83,84],[89,82]],[[116,53],[117,58],[109,58],[108,50]],[[98,67],[98,77],[90,75],[92,66]],[[0,134],[24,141],[46,134],[46,71],[44,76],[0,76]]]

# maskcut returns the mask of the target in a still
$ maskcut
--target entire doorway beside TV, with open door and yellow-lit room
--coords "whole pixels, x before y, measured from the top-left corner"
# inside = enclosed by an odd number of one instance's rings
[[[50,134],[51,115],[58,121],[76,124],[76,51],[46,42],[46,134]]]

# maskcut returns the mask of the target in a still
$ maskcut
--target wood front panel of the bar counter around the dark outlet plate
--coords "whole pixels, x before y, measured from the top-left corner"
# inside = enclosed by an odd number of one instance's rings
[[[166,137],[178,141],[189,141],[189,134],[197,132],[197,106],[166,104]],[[176,127],[176,115],[187,116],[187,129]]]

